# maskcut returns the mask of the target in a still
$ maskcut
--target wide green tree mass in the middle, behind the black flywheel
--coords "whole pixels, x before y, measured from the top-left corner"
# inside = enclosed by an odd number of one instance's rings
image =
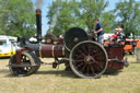
[[[104,12],[107,5],[108,2],[105,0],[55,0],[48,8],[48,24],[50,28],[52,27],[51,31],[55,35],[63,34],[72,26],[93,30],[95,28],[95,19],[108,15],[106,18],[109,20],[113,16],[112,13]],[[110,23],[110,21],[108,22]]]

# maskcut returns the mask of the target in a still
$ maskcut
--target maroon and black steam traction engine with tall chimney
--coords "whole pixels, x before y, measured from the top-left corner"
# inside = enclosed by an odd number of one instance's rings
[[[124,60],[124,46],[112,45],[103,47],[91,40],[88,34],[79,27],[70,28],[65,34],[63,43],[52,44],[46,39],[42,44],[42,15],[36,10],[37,43],[22,39],[22,48],[11,57],[9,68],[13,75],[30,75],[35,73],[42,63],[39,58],[55,58],[52,68],[66,63],[73,73],[81,78],[98,78],[105,71],[121,70],[128,66]],[[58,59],[61,58],[61,59]]]

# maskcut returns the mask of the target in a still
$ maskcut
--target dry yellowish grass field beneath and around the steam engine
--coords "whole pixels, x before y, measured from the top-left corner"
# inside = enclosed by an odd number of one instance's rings
[[[52,59],[44,59],[54,61]],[[71,72],[42,66],[36,74],[12,77],[9,59],[0,59],[0,93],[140,93],[140,62],[128,56],[130,66],[116,74],[100,79],[80,79]]]

